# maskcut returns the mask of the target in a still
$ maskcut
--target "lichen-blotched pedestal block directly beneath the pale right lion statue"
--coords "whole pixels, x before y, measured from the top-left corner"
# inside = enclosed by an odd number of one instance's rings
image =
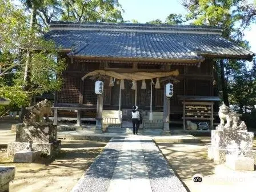
[[[211,145],[220,149],[253,149],[254,133],[247,131],[211,130]]]

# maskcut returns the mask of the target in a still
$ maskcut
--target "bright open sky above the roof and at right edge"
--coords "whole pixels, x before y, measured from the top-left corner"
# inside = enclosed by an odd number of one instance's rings
[[[119,0],[122,9],[125,10],[123,19],[125,21],[137,20],[139,23],[146,23],[155,19],[163,22],[170,13],[186,14],[181,5],[181,0]],[[256,25],[244,31],[245,38],[249,41],[251,51],[256,53]]]

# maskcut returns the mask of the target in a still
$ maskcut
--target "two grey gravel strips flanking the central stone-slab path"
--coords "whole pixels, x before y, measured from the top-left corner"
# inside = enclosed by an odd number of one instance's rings
[[[113,138],[95,159],[72,192],[106,192],[123,145],[122,138]],[[182,182],[151,139],[141,141],[152,192],[186,192]],[[100,187],[99,187],[100,186]]]

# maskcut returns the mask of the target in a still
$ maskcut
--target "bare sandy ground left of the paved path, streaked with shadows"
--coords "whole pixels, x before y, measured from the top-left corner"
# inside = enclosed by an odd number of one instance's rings
[[[0,165],[16,167],[10,191],[70,191],[105,145],[97,141],[62,141],[61,153],[54,160],[13,163],[2,153]]]

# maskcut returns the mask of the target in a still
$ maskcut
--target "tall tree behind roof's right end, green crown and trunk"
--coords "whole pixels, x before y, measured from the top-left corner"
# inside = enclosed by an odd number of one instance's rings
[[[223,30],[223,37],[230,41],[238,40],[241,43],[241,33],[235,29],[239,18],[233,11],[233,7],[237,6],[239,2],[239,0],[183,0],[182,5],[188,11],[187,19],[192,19],[194,25],[220,27]],[[219,60],[215,62],[215,65],[215,69],[218,67],[220,69],[223,101],[225,105],[229,106],[227,78],[225,78],[229,75],[229,61]]]

